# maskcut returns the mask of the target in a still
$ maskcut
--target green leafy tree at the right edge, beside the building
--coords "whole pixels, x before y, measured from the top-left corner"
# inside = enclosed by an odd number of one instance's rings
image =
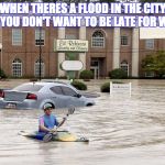
[[[147,55],[142,61],[142,69],[154,72],[157,77],[162,78],[165,75],[165,52],[160,51],[156,54]]]

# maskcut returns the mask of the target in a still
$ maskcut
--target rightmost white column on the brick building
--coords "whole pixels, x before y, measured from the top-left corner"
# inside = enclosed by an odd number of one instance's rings
[[[132,77],[139,77],[139,29],[132,30]]]

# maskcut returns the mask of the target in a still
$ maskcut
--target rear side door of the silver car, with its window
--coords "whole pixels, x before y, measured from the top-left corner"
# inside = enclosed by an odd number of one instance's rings
[[[55,102],[56,108],[67,107],[67,97],[64,95],[61,86],[54,86],[51,88],[54,92],[53,101]]]

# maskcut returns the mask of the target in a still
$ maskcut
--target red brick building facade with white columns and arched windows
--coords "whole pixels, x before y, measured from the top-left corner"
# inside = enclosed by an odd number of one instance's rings
[[[57,38],[87,40],[89,50],[55,52]],[[61,64],[66,59],[81,61],[82,69],[92,70],[95,78],[108,77],[114,68],[124,69],[130,77],[142,77],[147,76],[142,72],[142,59],[165,50],[163,38],[140,40],[139,29],[120,28],[3,28],[0,43],[0,67],[10,77],[38,77],[40,64],[42,77],[65,77],[68,73]]]

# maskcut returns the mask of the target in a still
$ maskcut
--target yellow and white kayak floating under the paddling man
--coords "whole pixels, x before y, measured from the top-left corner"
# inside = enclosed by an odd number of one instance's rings
[[[31,139],[35,139],[35,140],[40,140],[40,141],[43,141],[43,138],[45,136],[45,133],[37,132],[37,131],[35,131],[35,132],[20,131],[19,134],[22,136],[26,136],[26,138],[31,138]],[[55,135],[53,135],[52,141],[89,142],[89,140],[87,138],[84,138],[84,136],[78,138],[68,131],[57,131],[57,133]]]

